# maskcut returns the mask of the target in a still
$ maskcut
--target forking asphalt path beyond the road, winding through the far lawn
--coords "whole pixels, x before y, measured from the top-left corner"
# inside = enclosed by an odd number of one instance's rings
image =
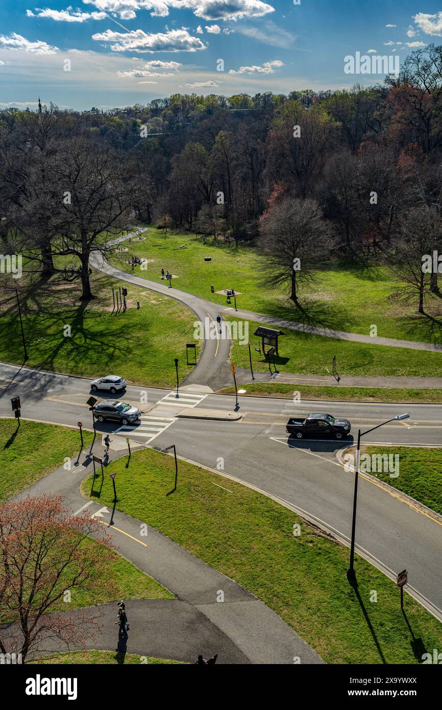
[[[116,246],[129,237],[138,236],[138,232],[134,231],[111,242]],[[421,343],[412,340],[399,340],[394,338],[371,337],[361,333],[348,333],[331,328],[314,326],[311,324],[296,323],[281,318],[266,316],[260,313],[255,313],[246,310],[235,311],[232,307],[225,307],[206,301],[199,296],[195,296],[186,291],[181,291],[175,287],[169,288],[163,283],[151,281],[135,273],[121,271],[121,269],[112,266],[99,253],[92,253],[90,258],[91,266],[94,266],[98,271],[102,271],[107,275],[118,278],[128,283],[149,288],[157,293],[170,296],[182,302],[189,307],[197,316],[197,320],[201,323],[206,322],[209,318],[209,324],[216,322],[216,316],[234,315],[236,318],[244,320],[253,320],[267,324],[277,328],[285,328],[296,330],[307,334],[320,335],[323,337],[334,338],[338,340],[346,340],[348,342],[359,342],[369,345],[384,345],[398,348],[409,348],[413,350],[442,352],[442,345],[432,343]],[[228,334],[228,332],[226,332]],[[204,339],[204,348],[201,351],[199,362],[194,368],[194,371],[185,379],[186,384],[196,383],[211,387],[214,391],[223,387],[231,386],[232,374],[229,365],[229,356],[231,348],[231,339],[229,337],[218,337],[216,339]],[[237,368],[238,379],[240,381],[250,381],[251,374],[246,368]],[[255,381],[264,382],[270,381],[270,370],[255,371]],[[306,376],[305,374],[296,373],[281,373],[275,378],[276,381],[283,383],[299,383],[311,385],[330,385],[341,387],[377,387],[377,388],[417,388],[417,389],[433,389],[442,388],[441,377],[382,377],[382,376],[338,376],[334,377],[332,373],[328,376]]]

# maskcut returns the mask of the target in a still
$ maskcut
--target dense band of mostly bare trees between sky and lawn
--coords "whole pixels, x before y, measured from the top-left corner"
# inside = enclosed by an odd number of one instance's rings
[[[82,263],[130,224],[247,241],[267,285],[319,260],[385,261],[424,313],[421,259],[441,248],[442,47],[371,87],[287,96],[174,94],[110,111],[0,111],[0,250]],[[293,268],[299,259],[299,270]]]

